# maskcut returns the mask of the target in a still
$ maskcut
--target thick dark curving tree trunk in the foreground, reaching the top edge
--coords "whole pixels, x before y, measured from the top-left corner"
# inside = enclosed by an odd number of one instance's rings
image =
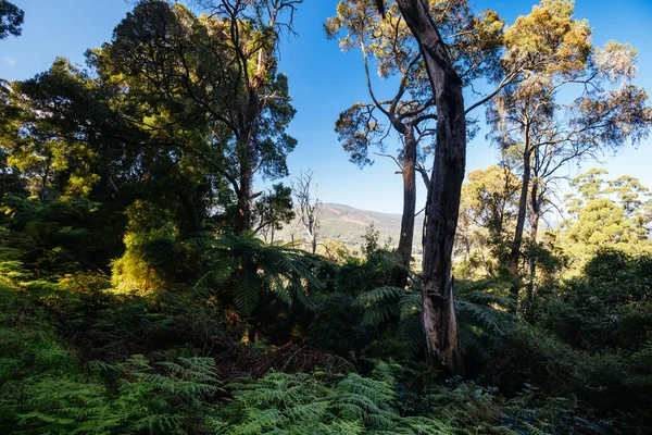
[[[460,373],[451,263],[466,162],[466,120],[462,80],[432,21],[428,2],[398,0],[417,39],[437,104],[437,147],[428,189],[423,260],[423,326],[430,364]]]

